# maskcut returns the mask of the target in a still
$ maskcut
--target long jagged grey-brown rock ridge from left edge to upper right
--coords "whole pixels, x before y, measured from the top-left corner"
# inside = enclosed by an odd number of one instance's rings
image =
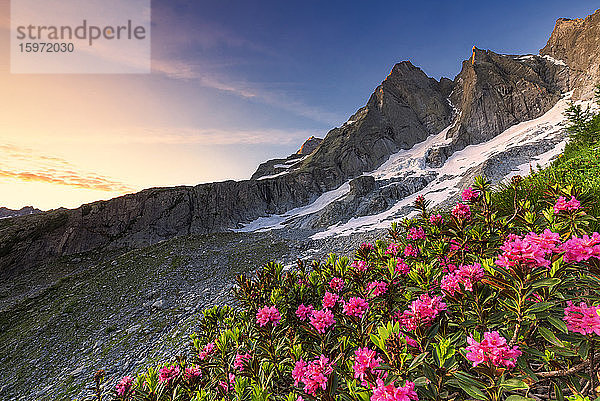
[[[598,77],[599,15],[559,20],[541,56],[474,48],[454,80],[437,81],[410,62],[399,63],[367,104],[314,149],[309,152],[310,145],[288,158],[266,162],[250,180],[152,188],[74,210],[4,219],[0,271],[99,247],[136,248],[178,235],[227,231],[282,214],[376,170],[391,155],[447,128],[443,143],[426,150],[427,164],[422,166],[439,167],[458,150],[543,115],[565,92],[586,92],[589,81]],[[362,204],[348,198],[348,205],[339,205],[342,215],[320,209],[310,226],[389,208],[429,179],[406,185],[406,178],[392,180],[394,190],[382,189],[387,184],[381,180],[375,182],[372,191],[361,196]],[[369,199],[370,209],[364,204]],[[333,221],[332,215],[337,216]]]

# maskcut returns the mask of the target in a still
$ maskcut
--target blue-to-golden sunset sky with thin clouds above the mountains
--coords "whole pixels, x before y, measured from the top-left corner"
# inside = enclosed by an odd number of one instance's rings
[[[596,6],[153,1],[152,74],[14,75],[0,58],[0,206],[249,178],[341,125],[397,62],[453,78],[473,45],[537,53],[557,18]],[[8,2],[0,14],[8,47]]]

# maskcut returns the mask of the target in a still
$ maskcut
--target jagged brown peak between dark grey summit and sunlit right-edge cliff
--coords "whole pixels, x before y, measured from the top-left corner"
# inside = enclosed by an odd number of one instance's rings
[[[430,152],[431,166],[541,116],[569,88],[565,65],[541,56],[507,56],[476,47],[454,83],[450,101],[459,114],[446,136],[451,142]]]

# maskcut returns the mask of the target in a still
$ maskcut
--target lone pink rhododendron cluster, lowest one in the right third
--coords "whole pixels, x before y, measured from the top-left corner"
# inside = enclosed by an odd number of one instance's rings
[[[519,347],[509,347],[506,339],[497,331],[484,333],[481,343],[473,337],[468,337],[467,342],[469,346],[466,348],[466,357],[473,362],[474,367],[480,363],[490,363],[496,367],[514,368],[517,358],[521,355]]]

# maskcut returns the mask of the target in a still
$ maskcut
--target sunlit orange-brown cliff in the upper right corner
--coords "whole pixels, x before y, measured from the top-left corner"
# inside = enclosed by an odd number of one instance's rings
[[[600,10],[585,19],[559,18],[540,54],[569,67],[574,99],[590,99],[600,83]]]

